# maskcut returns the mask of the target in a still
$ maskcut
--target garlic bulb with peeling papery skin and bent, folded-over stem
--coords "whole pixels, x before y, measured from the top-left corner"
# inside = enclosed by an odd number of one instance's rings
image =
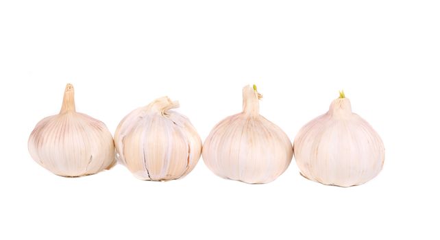
[[[178,112],[178,101],[160,97],[128,114],[114,134],[117,158],[142,180],[173,180],[197,164],[201,140],[191,122]]]

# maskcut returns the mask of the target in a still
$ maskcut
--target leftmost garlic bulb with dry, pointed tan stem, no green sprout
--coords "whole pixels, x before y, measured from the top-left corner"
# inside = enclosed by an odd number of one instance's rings
[[[60,114],[37,123],[29,136],[32,158],[59,176],[97,173],[114,165],[114,143],[106,125],[75,111],[73,86],[67,84]]]

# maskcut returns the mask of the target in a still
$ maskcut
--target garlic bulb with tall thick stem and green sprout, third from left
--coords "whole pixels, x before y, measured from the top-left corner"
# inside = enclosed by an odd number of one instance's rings
[[[255,85],[245,86],[243,112],[223,119],[206,139],[203,159],[218,176],[266,183],[278,178],[291,163],[291,141],[259,114],[261,97]]]

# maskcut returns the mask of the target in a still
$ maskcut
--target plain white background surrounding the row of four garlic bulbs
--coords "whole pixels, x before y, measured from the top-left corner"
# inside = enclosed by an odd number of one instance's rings
[[[439,239],[439,1],[0,1],[0,239]],[[241,111],[293,141],[345,90],[386,148],[359,187],[302,178],[144,182],[117,165],[62,178],[27,152],[64,86],[113,133],[168,95],[201,139]],[[437,228],[437,229],[435,229]]]

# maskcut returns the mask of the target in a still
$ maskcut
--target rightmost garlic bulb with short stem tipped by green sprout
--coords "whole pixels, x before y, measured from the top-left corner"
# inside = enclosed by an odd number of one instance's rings
[[[352,112],[343,92],[324,115],[300,130],[293,142],[304,177],[350,187],[371,180],[384,163],[384,145],[371,126]]]

